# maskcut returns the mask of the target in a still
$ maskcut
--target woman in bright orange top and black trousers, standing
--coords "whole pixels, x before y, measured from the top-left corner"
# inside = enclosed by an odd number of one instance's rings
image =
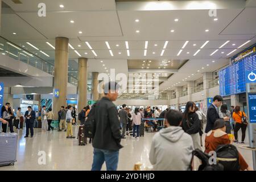
[[[232,115],[235,124],[234,127],[234,136],[235,139],[234,142],[238,142],[238,131],[242,130],[242,142],[245,143],[245,133],[247,128],[247,116],[245,115],[245,112],[240,111],[240,106],[236,106]]]

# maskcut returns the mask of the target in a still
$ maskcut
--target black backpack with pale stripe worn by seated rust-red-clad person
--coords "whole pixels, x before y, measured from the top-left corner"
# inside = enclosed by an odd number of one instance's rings
[[[217,162],[224,166],[224,171],[239,171],[239,155],[233,144],[221,144],[216,148]]]

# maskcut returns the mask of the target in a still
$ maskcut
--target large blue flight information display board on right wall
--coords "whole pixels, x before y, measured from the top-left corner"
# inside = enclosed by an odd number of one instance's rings
[[[221,96],[245,92],[245,71],[256,70],[255,46],[233,57],[232,63],[219,71]]]

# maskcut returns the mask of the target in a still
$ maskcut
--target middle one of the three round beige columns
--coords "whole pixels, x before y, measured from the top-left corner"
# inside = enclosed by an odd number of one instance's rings
[[[79,57],[79,78],[77,89],[79,112],[87,105],[87,58]]]

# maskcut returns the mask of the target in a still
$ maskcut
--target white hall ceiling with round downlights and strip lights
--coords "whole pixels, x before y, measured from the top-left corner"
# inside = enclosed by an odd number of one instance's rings
[[[69,43],[81,56],[88,57],[89,72],[105,72],[101,60],[104,60],[108,70],[115,68],[116,72],[127,73],[127,59],[188,59],[188,63],[164,82],[160,89],[172,86],[179,81],[180,84],[184,84],[183,77],[196,73],[199,69],[198,65],[200,68],[201,65],[210,65],[205,66],[203,72],[215,71],[228,64],[231,56],[256,43],[255,0],[247,0],[247,2],[168,1],[165,9],[172,7],[172,10],[163,11],[153,10],[154,6],[149,4],[152,2],[46,0],[44,1],[47,8],[46,17],[37,15],[38,3],[42,1],[20,1],[22,5],[16,5],[11,0],[3,0],[14,10],[14,13],[3,9],[1,36],[19,46],[25,46],[28,51],[38,53],[38,56],[44,60],[54,60],[55,51],[46,42],[55,46],[56,36],[69,38]],[[209,2],[216,6],[217,21],[213,20],[215,17],[210,17],[208,14],[209,6],[206,5]],[[154,3],[158,8],[163,2]],[[192,3],[194,3],[193,6]],[[59,7],[60,4],[64,5],[64,9]],[[146,7],[150,8],[145,10]],[[179,19],[178,22],[174,21],[176,18]],[[139,22],[135,22],[135,19],[139,19]],[[70,23],[70,20],[74,20],[75,23]],[[207,29],[209,31],[205,32]],[[140,32],[136,33],[136,30]],[[82,34],[79,34],[79,31],[82,31]],[[16,35],[13,35],[13,32],[16,32]],[[196,56],[193,56],[207,40],[209,43]],[[230,42],[210,56],[227,40]],[[237,49],[247,40],[251,42]],[[97,57],[86,46],[86,41],[97,53]],[[109,42],[114,56],[110,55],[105,41]],[[127,56],[125,41],[129,42],[130,56]],[[144,56],[145,41],[148,41],[146,56]],[[163,56],[160,56],[166,41],[168,41],[166,50]],[[189,42],[177,56],[185,41]],[[49,57],[28,46],[26,42],[46,52]],[[232,44],[236,45],[232,46]],[[237,51],[227,56],[233,49]],[[79,56],[69,49],[69,59],[77,60],[78,58]],[[213,64],[212,60],[216,62]],[[191,79],[200,77],[202,77],[202,71]]]

